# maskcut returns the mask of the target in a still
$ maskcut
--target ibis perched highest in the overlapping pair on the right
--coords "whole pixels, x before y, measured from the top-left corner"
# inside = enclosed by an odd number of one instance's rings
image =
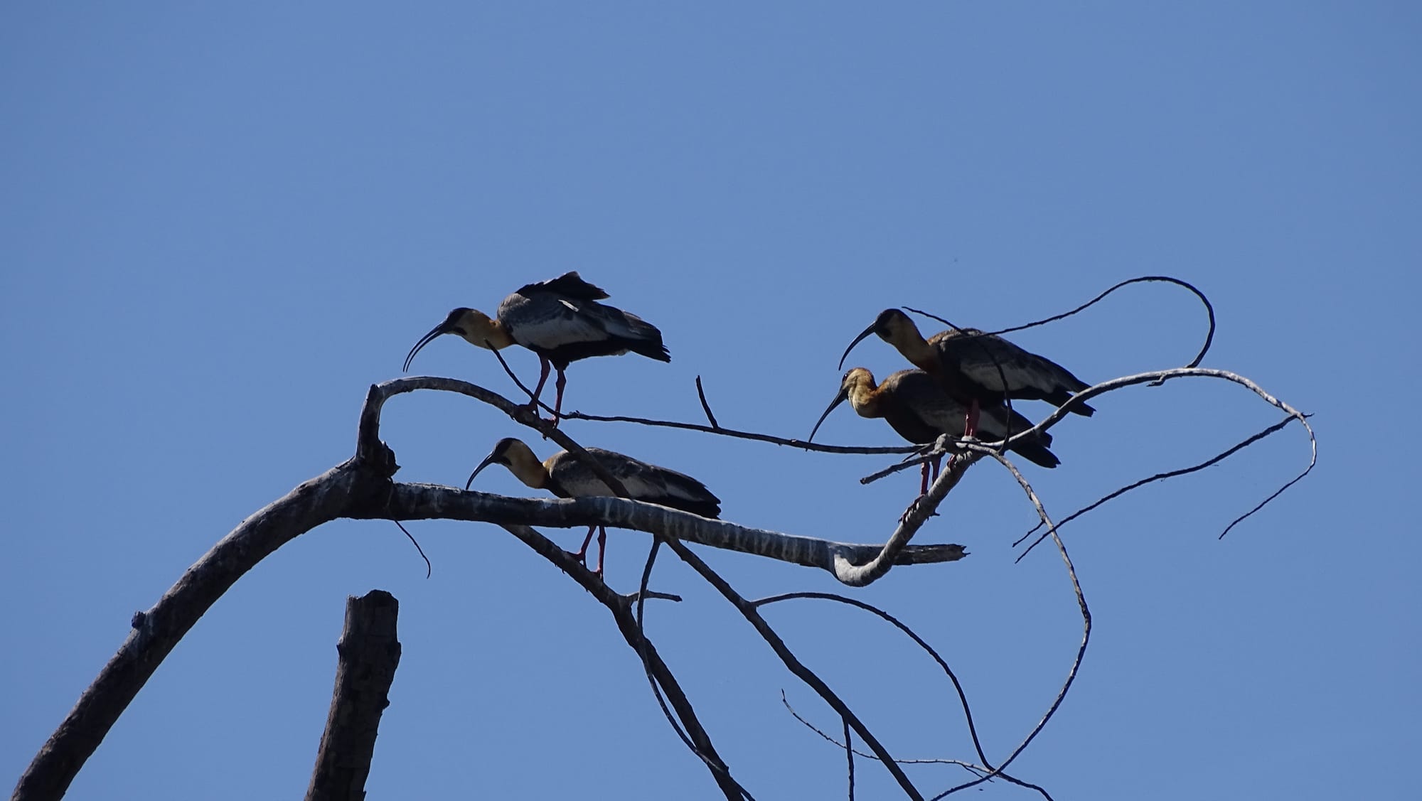
[[[975,433],[983,406],[1004,398],[1047,400],[1061,406],[1089,386],[1059,364],[977,328],[950,328],[924,339],[919,327],[897,308],[880,311],[875,322],[855,337],[839,358],[840,368],[849,351],[870,334],[893,345],[916,368],[931,375],[954,400],[968,406],[964,436]],[[1076,403],[1071,410],[1086,418],[1096,412],[1085,403]]]

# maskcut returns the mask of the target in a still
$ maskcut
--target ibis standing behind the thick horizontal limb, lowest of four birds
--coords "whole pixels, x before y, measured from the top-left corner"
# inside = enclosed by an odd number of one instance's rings
[[[685,473],[648,464],[614,450],[603,450],[602,447],[586,450],[627,487],[627,493],[634,500],[690,511],[711,520],[721,516],[721,498]],[[493,450],[469,474],[464,489],[468,490],[474,484],[474,477],[489,464],[503,464],[526,486],[535,490],[547,490],[560,498],[617,496],[577,454],[559,450],[539,462],[523,440],[512,436],[501,439],[493,446]],[[589,525],[583,547],[573,555],[583,562],[583,567],[587,567],[587,544],[593,541],[593,531],[597,531],[597,570],[593,572],[602,575],[603,554],[607,550],[607,530],[604,527]]]

